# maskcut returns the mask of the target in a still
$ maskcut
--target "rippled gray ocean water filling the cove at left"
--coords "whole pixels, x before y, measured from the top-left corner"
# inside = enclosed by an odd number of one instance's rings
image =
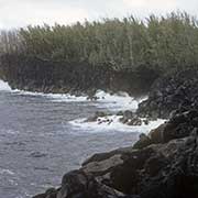
[[[2,86],[0,84],[0,86]],[[57,101],[0,89],[0,197],[29,198],[59,186],[94,153],[129,146],[138,132],[77,128],[69,121],[106,110],[91,101]],[[112,105],[112,103],[111,103]]]

